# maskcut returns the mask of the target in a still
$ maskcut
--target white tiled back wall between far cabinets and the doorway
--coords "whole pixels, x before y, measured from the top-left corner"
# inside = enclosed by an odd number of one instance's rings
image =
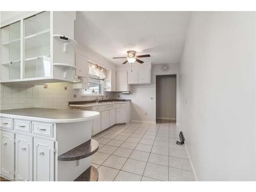
[[[113,99],[131,99],[131,120],[156,121],[156,84],[133,84],[131,94],[112,93]]]

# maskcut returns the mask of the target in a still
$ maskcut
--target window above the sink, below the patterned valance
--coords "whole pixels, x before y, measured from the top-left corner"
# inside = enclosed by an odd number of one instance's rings
[[[89,89],[83,90],[83,94],[101,94],[102,80],[95,75],[89,74]]]

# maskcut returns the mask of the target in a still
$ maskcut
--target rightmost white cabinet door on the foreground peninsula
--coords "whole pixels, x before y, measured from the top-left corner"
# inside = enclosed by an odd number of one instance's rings
[[[34,181],[54,181],[54,141],[34,138]]]

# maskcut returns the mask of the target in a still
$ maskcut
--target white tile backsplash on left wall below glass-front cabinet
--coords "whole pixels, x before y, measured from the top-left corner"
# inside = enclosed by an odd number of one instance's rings
[[[94,100],[97,96],[82,96],[82,90],[73,89],[68,82],[47,83],[40,86],[20,86],[1,84],[0,109],[17,108],[55,108],[69,109],[69,101]],[[65,90],[67,87],[67,90]],[[74,97],[76,95],[76,97]],[[105,93],[104,99],[111,99],[111,93]]]

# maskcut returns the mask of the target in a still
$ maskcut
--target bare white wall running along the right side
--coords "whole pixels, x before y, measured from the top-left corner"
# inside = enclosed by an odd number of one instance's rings
[[[194,12],[180,127],[199,180],[255,180],[255,13]]]

